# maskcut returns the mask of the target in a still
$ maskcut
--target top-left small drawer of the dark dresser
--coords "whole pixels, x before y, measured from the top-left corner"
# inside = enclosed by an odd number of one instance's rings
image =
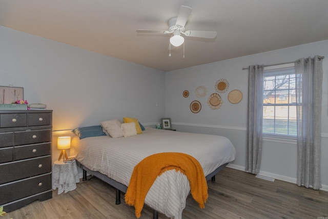
[[[0,114],[0,128],[27,126],[27,113]]]

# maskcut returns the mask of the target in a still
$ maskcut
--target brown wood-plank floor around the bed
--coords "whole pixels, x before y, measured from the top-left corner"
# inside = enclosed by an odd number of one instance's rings
[[[209,198],[200,209],[191,195],[182,218],[324,218],[328,219],[328,192],[298,187],[292,183],[255,178],[243,171],[224,168],[216,175],[216,182],[208,182]],[[9,212],[7,218],[136,218],[134,208],[115,205],[115,190],[91,178],[77,185],[77,189],[57,195],[44,202]],[[152,218],[152,210],[145,207],[142,218]],[[159,214],[159,218],[168,218]]]

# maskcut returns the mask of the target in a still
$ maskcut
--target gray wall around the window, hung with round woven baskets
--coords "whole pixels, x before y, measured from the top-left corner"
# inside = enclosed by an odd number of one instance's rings
[[[186,54],[188,55],[188,54]],[[247,100],[248,100],[248,70],[243,67],[255,64],[278,64],[293,62],[301,57],[323,55],[323,92],[322,92],[322,159],[321,176],[324,189],[328,190],[328,41],[279,49],[260,54],[227,59],[220,62],[199,65],[195,67],[166,72],[166,117],[171,117],[173,128],[179,131],[199,132],[223,135],[230,138],[237,151],[237,158],[231,165],[244,170],[246,151]],[[229,90],[220,94],[222,106],[220,109],[210,109],[208,97],[215,91],[218,79],[227,79]],[[195,89],[198,86],[207,88],[207,95],[197,98]],[[228,101],[230,91],[238,89],[243,98],[238,104]],[[189,97],[182,96],[184,90],[189,90]],[[192,113],[190,103],[198,100],[201,103],[199,113]],[[262,151],[261,175],[296,182],[297,148],[295,142],[265,139]]]

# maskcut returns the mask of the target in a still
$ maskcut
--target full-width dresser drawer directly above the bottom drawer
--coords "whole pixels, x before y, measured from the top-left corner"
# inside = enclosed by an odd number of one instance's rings
[[[0,184],[51,172],[51,156],[0,164]],[[5,176],[5,177],[4,177]],[[28,188],[28,187],[25,187]]]

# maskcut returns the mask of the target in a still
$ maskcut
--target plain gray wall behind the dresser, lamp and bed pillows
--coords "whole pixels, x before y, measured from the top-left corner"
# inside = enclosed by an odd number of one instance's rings
[[[153,125],[165,114],[165,72],[2,26],[0,85],[53,110],[53,160],[69,129],[124,116]]]

